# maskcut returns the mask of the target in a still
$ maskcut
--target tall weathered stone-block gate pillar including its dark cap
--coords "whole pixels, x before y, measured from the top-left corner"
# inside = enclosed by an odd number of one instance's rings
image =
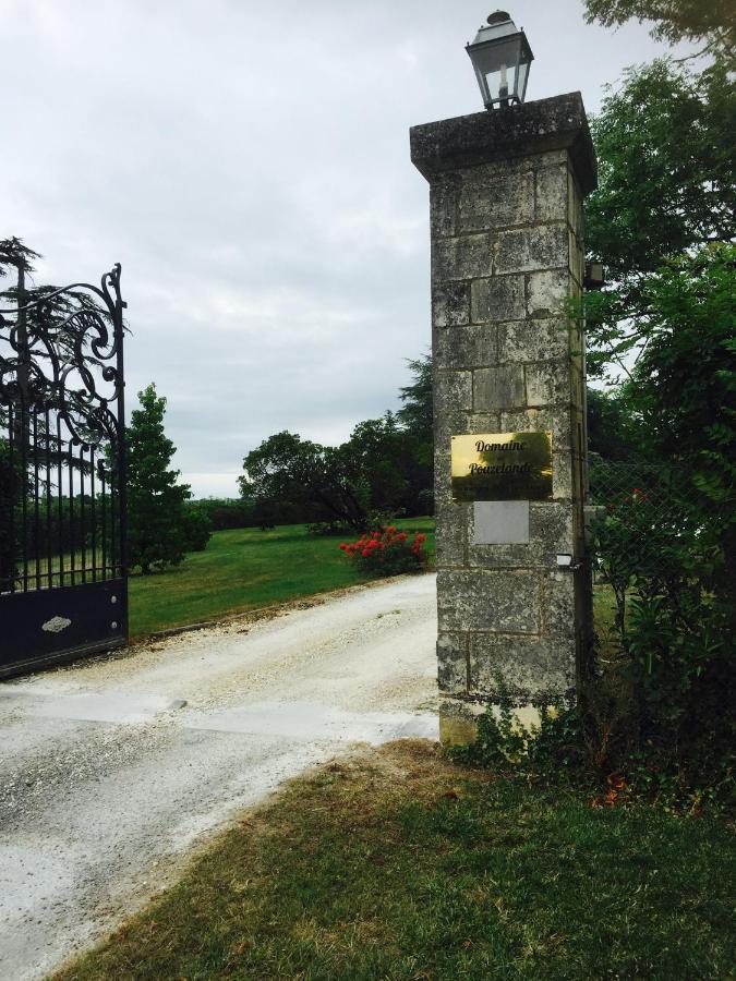
[[[583,338],[565,303],[595,157],[574,93],[414,126],[411,159],[431,191],[441,731],[467,741],[498,677],[520,707],[574,698],[588,649]],[[552,434],[546,496],[454,495],[453,437],[532,433]]]

